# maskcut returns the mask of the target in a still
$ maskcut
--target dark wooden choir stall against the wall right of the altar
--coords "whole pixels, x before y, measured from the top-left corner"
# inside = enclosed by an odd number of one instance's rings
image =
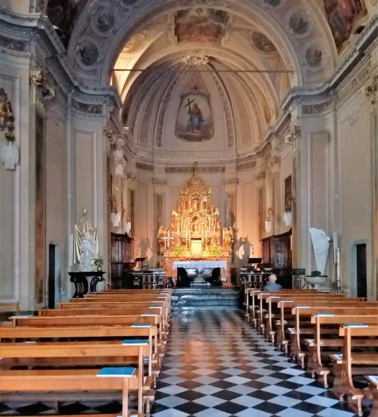
[[[283,288],[292,288],[291,230],[261,240],[262,262],[270,264]]]

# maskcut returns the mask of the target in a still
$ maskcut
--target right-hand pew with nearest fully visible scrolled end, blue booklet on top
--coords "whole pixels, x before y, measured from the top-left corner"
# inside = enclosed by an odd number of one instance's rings
[[[361,313],[364,313],[363,311]],[[359,316],[355,315],[338,315],[332,313],[317,313],[311,316],[311,323],[314,325],[314,339],[311,340],[309,345],[308,353],[308,364],[307,369],[311,371],[312,377],[315,375],[319,376],[319,380],[323,382],[324,387],[328,388],[328,375],[331,373],[332,369],[324,365],[324,357],[329,356],[329,352],[323,352],[325,348],[333,348],[337,350],[335,353],[341,353],[341,349],[344,344],[344,340],[339,338],[339,328],[340,325],[349,323],[349,324],[358,324],[365,323],[368,325],[374,325],[378,323],[378,316],[361,314]],[[333,330],[332,332],[327,332],[327,335],[332,334],[332,339],[325,338],[324,326],[328,327],[328,330]],[[332,327],[332,329],[329,329]],[[333,329],[334,328],[334,329]],[[336,332],[334,331],[336,330]],[[363,347],[363,346],[374,346],[375,343],[370,343],[371,340],[360,340],[352,339],[352,347]]]

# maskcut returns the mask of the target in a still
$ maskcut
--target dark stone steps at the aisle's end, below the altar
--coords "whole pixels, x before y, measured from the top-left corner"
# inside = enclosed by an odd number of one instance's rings
[[[174,288],[173,309],[232,308],[238,307],[239,292],[234,288]]]

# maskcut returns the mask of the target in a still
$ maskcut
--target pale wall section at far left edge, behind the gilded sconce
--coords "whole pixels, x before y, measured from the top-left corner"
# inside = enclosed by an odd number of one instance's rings
[[[34,176],[29,140],[29,59],[0,53],[0,85],[11,100],[21,163],[15,171],[0,166],[0,301],[34,308]],[[0,132],[3,143],[5,132]],[[6,236],[6,238],[5,238]]]

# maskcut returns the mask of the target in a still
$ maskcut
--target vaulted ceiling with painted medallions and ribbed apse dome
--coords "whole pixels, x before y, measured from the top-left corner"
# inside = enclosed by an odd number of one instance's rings
[[[197,88],[221,103],[225,147],[238,154],[259,148],[290,87],[332,73],[366,19],[363,0],[70,2],[68,59],[85,84],[117,88],[136,146],[164,148],[169,99]]]

